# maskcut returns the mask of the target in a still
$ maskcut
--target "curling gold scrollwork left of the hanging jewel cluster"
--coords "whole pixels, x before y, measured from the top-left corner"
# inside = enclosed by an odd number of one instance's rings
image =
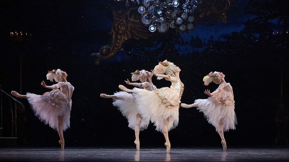
[[[148,39],[151,36],[147,27],[141,24],[140,15],[136,10],[137,7],[128,9],[125,13],[115,10],[112,12],[115,22],[109,32],[112,35],[111,43],[101,47],[99,53],[91,54],[96,57],[95,64],[98,65],[100,60],[113,57],[126,40]]]

